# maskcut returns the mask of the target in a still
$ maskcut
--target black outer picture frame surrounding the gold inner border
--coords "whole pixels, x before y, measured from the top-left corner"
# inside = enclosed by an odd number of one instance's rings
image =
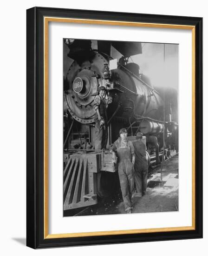
[[[27,10],[26,245],[33,248],[202,238],[202,18],[33,7]],[[44,17],[173,24],[195,28],[195,228],[80,237],[47,237],[44,213]],[[47,198],[46,198],[47,200]],[[47,213],[46,213],[47,214]]]

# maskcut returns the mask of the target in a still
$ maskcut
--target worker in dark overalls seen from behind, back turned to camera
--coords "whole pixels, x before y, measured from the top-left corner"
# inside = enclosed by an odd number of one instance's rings
[[[148,163],[146,159],[146,145],[142,141],[143,133],[136,134],[136,141],[133,141],[135,150],[135,196],[142,196],[146,194],[147,190],[147,175]]]

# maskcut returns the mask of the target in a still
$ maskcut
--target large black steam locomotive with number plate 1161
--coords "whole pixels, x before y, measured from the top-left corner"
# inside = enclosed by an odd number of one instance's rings
[[[96,47],[95,47],[96,44]],[[97,203],[112,193],[117,166],[106,149],[95,150],[93,101],[98,88],[107,89],[108,144],[116,141],[120,128],[128,139],[143,133],[150,166],[178,150],[177,92],[153,88],[129,62],[142,54],[139,42],[64,39],[64,210]],[[119,60],[111,57],[113,49]]]

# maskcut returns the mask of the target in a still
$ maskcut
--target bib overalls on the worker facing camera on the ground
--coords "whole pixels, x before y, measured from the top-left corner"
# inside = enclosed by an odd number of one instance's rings
[[[125,210],[131,209],[131,196],[134,193],[134,165],[131,162],[130,148],[117,148],[118,176]]]

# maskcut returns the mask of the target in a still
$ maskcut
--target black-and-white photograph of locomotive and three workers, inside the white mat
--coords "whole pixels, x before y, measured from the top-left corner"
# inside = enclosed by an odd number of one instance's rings
[[[63,216],[179,211],[178,49],[63,39]]]

